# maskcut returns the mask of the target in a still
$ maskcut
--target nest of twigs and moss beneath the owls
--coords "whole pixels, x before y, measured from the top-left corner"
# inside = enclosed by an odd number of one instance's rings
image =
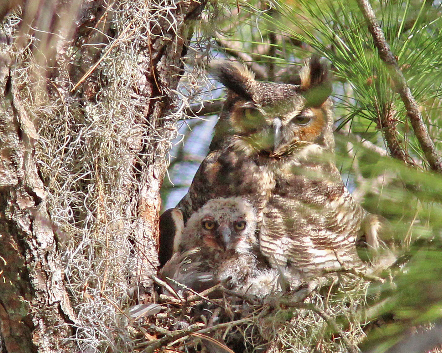
[[[303,289],[264,299],[225,289],[161,294],[157,304],[133,307],[137,349],[153,352],[357,352],[365,337],[364,307],[370,280],[362,274],[331,275],[307,296]],[[164,288],[167,283],[156,279]],[[221,290],[222,296],[210,299]],[[302,294],[301,294],[302,293]],[[146,337],[148,340],[146,340]]]

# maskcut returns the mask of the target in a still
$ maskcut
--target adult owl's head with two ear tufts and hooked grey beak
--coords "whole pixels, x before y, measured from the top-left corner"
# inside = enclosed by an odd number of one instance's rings
[[[228,136],[244,148],[278,156],[316,143],[332,150],[333,115],[328,68],[317,57],[305,62],[299,84],[264,83],[236,62],[214,65],[218,80],[229,90],[210,149]]]

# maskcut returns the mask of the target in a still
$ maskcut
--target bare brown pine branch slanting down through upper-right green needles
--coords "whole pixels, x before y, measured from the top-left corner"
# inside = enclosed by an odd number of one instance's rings
[[[419,106],[411,93],[410,87],[408,87],[407,81],[397,64],[397,60],[391,52],[389,44],[385,40],[384,32],[377,23],[373,8],[368,0],[357,0],[357,2],[362,14],[364,15],[368,29],[373,37],[374,44],[378,49],[379,57],[390,68],[391,78],[396,86],[396,90],[400,94],[400,98],[404,102],[405,109],[407,109],[408,118],[410,119],[413,130],[425,154],[425,157],[427,158],[431,169],[437,172],[442,172],[442,160],[436,151],[430,135],[428,134],[427,126],[422,119]]]

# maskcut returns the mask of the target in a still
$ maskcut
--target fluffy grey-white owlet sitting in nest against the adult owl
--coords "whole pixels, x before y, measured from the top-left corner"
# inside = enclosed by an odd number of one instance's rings
[[[259,260],[255,230],[255,210],[244,199],[211,199],[173,241],[176,252],[160,276],[197,291],[225,281],[237,292],[263,297],[276,285],[277,272]]]

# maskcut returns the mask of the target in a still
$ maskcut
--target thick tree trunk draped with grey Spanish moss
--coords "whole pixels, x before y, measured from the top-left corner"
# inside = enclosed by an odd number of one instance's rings
[[[118,314],[150,292],[167,114],[203,7],[28,1],[4,19],[1,352],[118,345]]]

